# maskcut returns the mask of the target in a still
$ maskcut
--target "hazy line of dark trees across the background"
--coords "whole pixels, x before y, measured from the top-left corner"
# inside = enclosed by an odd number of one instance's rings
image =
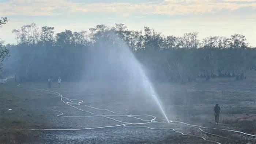
[[[121,49],[123,45],[146,67],[147,75],[158,81],[191,82],[196,77],[241,80],[246,78],[246,71],[256,66],[256,50],[249,47],[245,36],[240,34],[229,38],[210,36],[200,41],[196,32],[182,37],[165,36],[146,26],[140,31],[128,30],[122,23],[57,34],[54,27],[39,29],[31,23],[12,33],[17,44],[6,45],[10,57],[4,63],[5,73],[16,73],[30,81],[45,80],[49,76],[77,80],[91,70],[88,58],[93,57],[97,48],[104,47],[107,52],[112,48]]]

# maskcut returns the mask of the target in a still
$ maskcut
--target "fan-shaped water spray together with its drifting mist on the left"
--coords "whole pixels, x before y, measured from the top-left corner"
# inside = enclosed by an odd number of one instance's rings
[[[145,69],[124,42],[120,40],[113,44],[103,39],[94,45],[94,49],[89,49],[89,53],[86,58],[88,67],[84,71],[87,81],[96,82],[99,91],[105,90],[102,93],[112,95],[112,99],[122,99],[123,109],[135,113],[159,113],[167,119]]]

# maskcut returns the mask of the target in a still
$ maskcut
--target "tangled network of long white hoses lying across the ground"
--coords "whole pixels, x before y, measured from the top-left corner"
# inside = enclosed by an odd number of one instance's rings
[[[8,78],[8,79],[11,79],[11,78]],[[4,79],[4,80],[0,80],[0,83],[1,82],[4,82],[6,83],[8,79]],[[18,85],[18,87],[20,87]],[[20,87],[20,88],[26,88],[26,87]],[[180,133],[184,136],[193,136],[193,137],[199,137],[205,141],[209,141],[209,142],[212,142],[212,143],[217,143],[217,144],[220,144],[219,142],[217,141],[211,141],[211,140],[206,140],[204,137],[202,136],[196,136],[196,135],[190,135],[190,134],[184,134],[182,132],[179,132],[175,129],[172,129],[172,128],[150,128],[148,126],[131,126],[131,125],[141,125],[141,124],[150,124],[150,123],[162,123],[162,122],[157,122],[155,121],[156,117],[153,116],[153,115],[148,115],[148,114],[140,114],[140,115],[132,115],[132,114],[126,114],[126,113],[117,113],[117,112],[114,112],[114,111],[111,111],[111,110],[108,110],[108,109],[100,109],[100,108],[97,108],[97,107],[93,107],[93,106],[88,106],[88,105],[81,105],[80,103],[83,102],[83,100],[79,100],[79,99],[70,99],[70,98],[66,98],[64,96],[62,96],[59,92],[54,92],[54,91],[49,91],[49,90],[44,90],[44,89],[36,89],[36,88],[26,88],[26,89],[30,89],[30,90],[36,90],[36,91],[45,91],[45,92],[50,92],[52,94],[55,94],[57,95],[56,97],[60,98],[61,101],[66,104],[66,105],[69,105],[75,109],[78,109],[80,111],[83,111],[83,112],[86,112],[86,113],[90,113],[90,114],[93,114],[93,115],[90,115],[90,116],[68,116],[68,115],[63,115],[63,113],[59,110],[53,110],[53,111],[57,111],[59,112],[60,114],[57,114],[57,116],[59,117],[98,117],[98,116],[101,116],[101,117],[105,117],[105,118],[108,118],[110,120],[113,120],[113,121],[117,121],[117,122],[120,122],[120,123],[123,123],[123,124],[120,124],[120,125],[112,125],[112,126],[101,126],[101,127],[93,127],[93,128],[80,128],[80,129],[29,129],[29,128],[22,128],[22,129],[16,129],[16,130],[37,130],[37,131],[43,131],[43,130],[86,130],[86,129],[100,129],[100,128],[111,128],[111,127],[117,127],[117,126],[124,126],[124,127],[143,127],[143,128],[149,128],[149,129],[155,129],[155,130],[160,130],[160,129],[170,129],[174,132],[177,132],[177,133]],[[69,102],[65,102],[64,99],[66,99],[67,101]],[[79,101],[78,103],[73,103],[73,101]],[[104,114],[96,114],[96,113],[92,113],[90,111],[86,111],[86,110],[83,110],[83,109],[79,109],[78,107],[75,107],[71,104],[75,104],[75,105],[79,105],[79,106],[86,106],[86,107],[90,107],[91,109],[97,109],[97,110],[106,110],[106,111],[109,111],[110,113],[113,113],[113,114],[119,114],[119,115],[104,115]],[[151,120],[144,120],[142,118],[138,118],[136,116],[142,116],[142,115],[147,115],[147,116],[150,116],[152,117]],[[124,122],[124,121],[119,121],[119,120],[116,120],[114,118],[111,118],[111,117],[131,117],[131,118],[135,118],[137,120],[141,120],[141,121],[148,121],[148,122],[142,122],[142,123],[131,123],[131,122]],[[219,136],[217,134],[212,134],[212,133],[208,133],[208,132],[205,132],[204,130],[202,130],[201,128],[204,128],[204,129],[218,129],[218,128],[207,128],[207,127],[203,127],[203,126],[199,126],[199,125],[191,125],[191,124],[187,124],[185,122],[180,122],[180,121],[173,121],[173,122],[177,122],[177,123],[181,123],[181,124],[185,124],[185,125],[188,125],[188,126],[191,126],[193,128],[197,128],[199,130],[201,130],[202,132],[206,133],[206,134],[210,134],[212,136],[217,136],[217,137],[221,137],[221,138],[224,138],[224,139],[227,139],[225,137],[222,137],[222,136]],[[3,129],[0,129],[0,130],[3,130]],[[232,131],[232,132],[237,132],[237,133],[241,133],[241,134],[245,134],[247,136],[253,136],[253,137],[256,137],[255,135],[252,135],[252,134],[248,134],[248,133],[244,133],[244,132],[240,132],[240,131],[236,131],[236,130],[230,130],[230,129],[219,129],[219,130],[227,130],[227,131]],[[230,140],[230,139],[229,139]]]

